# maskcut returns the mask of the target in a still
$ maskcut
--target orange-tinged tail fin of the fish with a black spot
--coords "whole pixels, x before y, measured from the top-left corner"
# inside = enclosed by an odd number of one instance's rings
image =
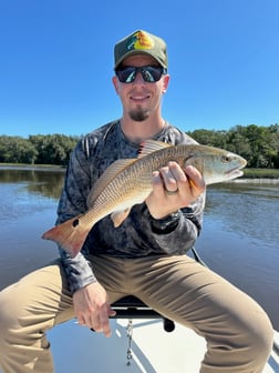
[[[86,228],[85,224],[81,224],[80,216],[53,226],[43,233],[42,239],[56,242],[62,249],[68,251],[72,258],[76,256],[91,229],[91,226]]]

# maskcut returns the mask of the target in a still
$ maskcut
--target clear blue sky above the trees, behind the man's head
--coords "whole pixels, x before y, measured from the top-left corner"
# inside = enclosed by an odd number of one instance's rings
[[[278,0],[0,0],[0,134],[83,134],[122,114],[114,43],[168,44],[163,114],[185,131],[279,122]]]

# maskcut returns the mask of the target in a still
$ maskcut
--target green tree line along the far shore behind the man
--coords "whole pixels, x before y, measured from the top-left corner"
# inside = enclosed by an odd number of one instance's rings
[[[232,151],[248,161],[248,168],[279,169],[279,124],[236,125],[225,130],[187,131],[200,144]],[[29,138],[0,135],[0,162],[66,165],[81,137],[38,134]]]

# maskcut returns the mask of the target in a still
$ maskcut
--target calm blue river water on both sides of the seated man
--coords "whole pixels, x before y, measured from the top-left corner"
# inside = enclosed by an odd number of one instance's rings
[[[62,171],[0,168],[0,289],[58,256],[41,234],[55,221]],[[255,298],[279,330],[279,188],[224,183],[208,188],[196,244],[213,270]]]

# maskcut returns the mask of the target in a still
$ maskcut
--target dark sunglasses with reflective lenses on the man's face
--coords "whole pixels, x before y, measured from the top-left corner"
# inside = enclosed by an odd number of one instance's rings
[[[154,83],[158,81],[163,74],[166,74],[167,70],[157,65],[146,65],[141,68],[122,67],[115,71],[115,74],[122,83],[133,83],[137,72],[141,72],[144,81]]]

